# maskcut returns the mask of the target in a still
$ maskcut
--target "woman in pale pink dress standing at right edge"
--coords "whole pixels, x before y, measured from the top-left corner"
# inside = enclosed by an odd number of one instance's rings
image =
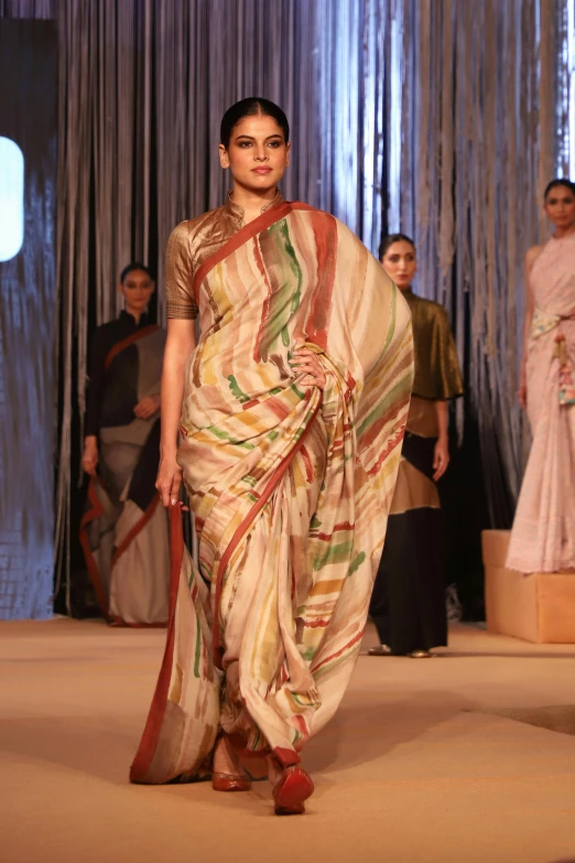
[[[555,226],[527,253],[527,314],[519,398],[533,444],[511,532],[509,569],[575,570],[575,184],[553,180]]]

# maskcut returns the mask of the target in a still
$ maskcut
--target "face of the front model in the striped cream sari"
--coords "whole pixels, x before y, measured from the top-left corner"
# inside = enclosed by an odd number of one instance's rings
[[[273,117],[245,117],[234,127],[229,147],[219,145],[219,161],[243,188],[268,192],[290,164],[290,144]]]

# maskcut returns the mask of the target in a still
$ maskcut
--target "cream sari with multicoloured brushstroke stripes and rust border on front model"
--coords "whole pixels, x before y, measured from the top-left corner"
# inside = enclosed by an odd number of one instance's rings
[[[166,650],[131,779],[209,770],[219,729],[299,760],[359,651],[413,375],[408,306],[332,216],[283,203],[195,273],[183,467],[199,572],[174,530]],[[304,342],[327,384],[290,367]],[[173,524],[178,516],[173,510]],[[209,586],[207,586],[206,582]]]

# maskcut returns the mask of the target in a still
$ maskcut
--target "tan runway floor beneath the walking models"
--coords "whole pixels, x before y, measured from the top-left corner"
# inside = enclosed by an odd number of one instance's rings
[[[436,659],[361,656],[307,746],[308,813],[282,819],[268,783],[128,784],[163,639],[0,624],[3,863],[575,861],[575,645],[458,625]]]

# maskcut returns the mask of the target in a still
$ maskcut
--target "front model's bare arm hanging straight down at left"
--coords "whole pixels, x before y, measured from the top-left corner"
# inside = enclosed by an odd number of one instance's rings
[[[196,347],[194,322],[172,319],[167,322],[161,388],[162,436],[160,467],[155,487],[164,506],[177,503],[182,468],[176,462],[177,435],[184,399],[184,368]]]

